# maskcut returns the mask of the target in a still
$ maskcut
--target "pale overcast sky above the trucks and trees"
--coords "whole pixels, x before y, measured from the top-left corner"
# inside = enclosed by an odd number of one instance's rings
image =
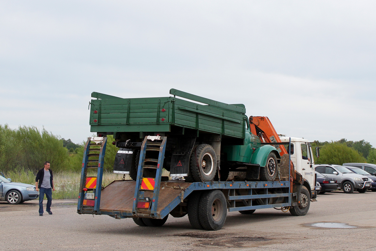
[[[93,91],[170,88],[376,147],[375,1],[0,0],[0,125],[90,137]]]

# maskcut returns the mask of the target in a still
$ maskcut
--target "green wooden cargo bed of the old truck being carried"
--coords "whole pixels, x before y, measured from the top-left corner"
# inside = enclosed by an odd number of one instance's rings
[[[96,99],[90,102],[91,132],[171,132],[187,128],[244,139],[244,105],[229,105],[175,89],[170,94],[173,97],[123,99],[93,92]]]

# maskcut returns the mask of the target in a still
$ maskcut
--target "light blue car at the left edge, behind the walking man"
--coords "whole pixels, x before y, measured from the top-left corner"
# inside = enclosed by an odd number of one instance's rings
[[[23,201],[36,199],[39,192],[36,192],[35,186],[30,184],[12,182],[6,179],[5,175],[0,175],[0,200],[8,201],[9,204],[19,204]]]

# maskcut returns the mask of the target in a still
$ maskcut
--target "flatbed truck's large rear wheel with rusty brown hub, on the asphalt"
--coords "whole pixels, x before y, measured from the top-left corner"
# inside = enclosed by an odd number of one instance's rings
[[[220,190],[204,192],[200,199],[200,222],[206,230],[219,230],[227,216],[226,198]]]

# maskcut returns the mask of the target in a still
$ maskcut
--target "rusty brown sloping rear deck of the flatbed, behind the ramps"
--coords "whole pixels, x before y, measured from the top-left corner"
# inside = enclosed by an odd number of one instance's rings
[[[161,181],[161,186],[158,196],[157,213],[170,204],[173,199],[179,196],[182,192],[180,189],[174,189],[180,186],[187,188],[192,183],[179,181]],[[133,197],[135,195],[136,181],[113,181],[102,190],[100,199],[101,211],[120,211],[125,213],[132,213]],[[145,190],[145,197],[153,197],[153,191]]]

